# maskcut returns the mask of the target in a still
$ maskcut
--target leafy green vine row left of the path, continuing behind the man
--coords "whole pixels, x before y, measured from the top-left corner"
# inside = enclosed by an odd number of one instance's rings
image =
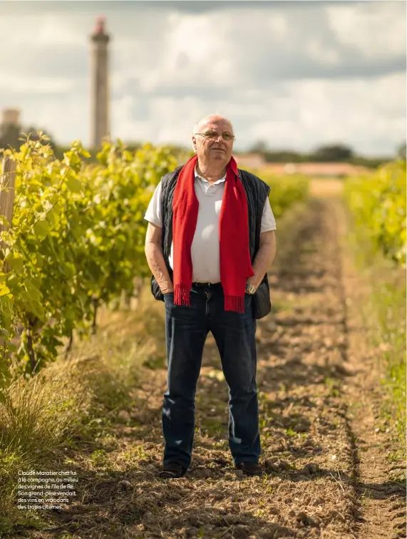
[[[88,155],[76,141],[58,160],[44,139],[4,153],[16,173],[11,222],[0,212],[3,381],[11,376],[11,354],[27,373],[38,371],[73,329],[88,334],[99,305],[130,297],[135,277],[150,275],[143,217],[155,186],[180,156],[149,144],[132,152],[120,140],[105,143],[96,164],[86,164]],[[308,195],[304,178],[262,179],[272,187],[276,217]],[[3,197],[7,182],[4,175]]]

